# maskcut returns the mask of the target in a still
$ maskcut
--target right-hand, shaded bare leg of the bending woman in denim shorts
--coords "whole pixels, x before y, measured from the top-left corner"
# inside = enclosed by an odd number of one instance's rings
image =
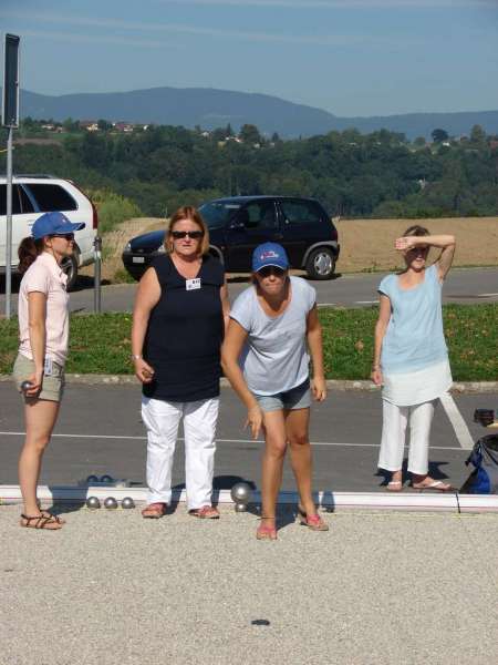
[[[308,515],[317,513],[311,494],[311,446],[308,434],[310,409],[295,409],[284,412],[287,439],[290,447],[292,471],[298,485],[301,508]]]

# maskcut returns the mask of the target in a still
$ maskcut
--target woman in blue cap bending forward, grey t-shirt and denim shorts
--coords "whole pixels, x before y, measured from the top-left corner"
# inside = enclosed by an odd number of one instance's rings
[[[282,246],[264,243],[255,249],[253,285],[234,303],[221,351],[225,375],[247,407],[253,439],[261,429],[264,432],[259,540],[277,539],[277,499],[288,446],[301,523],[314,531],[329,529],[311,494],[308,434],[311,392],[318,401],[326,396],[317,294],[288,270]],[[311,385],[308,349],[313,361]]]

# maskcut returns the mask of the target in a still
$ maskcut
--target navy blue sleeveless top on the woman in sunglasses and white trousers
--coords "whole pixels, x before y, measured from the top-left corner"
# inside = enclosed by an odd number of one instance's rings
[[[212,257],[203,257],[200,288],[187,290],[187,280],[168,255],[151,266],[160,285],[160,298],[151,313],[143,356],[154,368],[154,380],[143,393],[166,401],[197,401],[219,395],[224,316],[220,287],[225,270]]]

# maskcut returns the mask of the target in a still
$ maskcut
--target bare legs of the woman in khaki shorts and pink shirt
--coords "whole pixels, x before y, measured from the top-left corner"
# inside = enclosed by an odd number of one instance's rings
[[[59,413],[59,402],[45,399],[27,400],[24,403],[25,440],[19,458],[19,484],[24,502],[24,514],[40,515],[37,487],[43,452],[50,441]],[[60,524],[46,528],[60,529]]]

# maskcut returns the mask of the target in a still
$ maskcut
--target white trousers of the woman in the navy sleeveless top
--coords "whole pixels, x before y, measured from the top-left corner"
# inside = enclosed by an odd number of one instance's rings
[[[147,503],[172,501],[172,470],[178,427],[184,419],[187,508],[211,505],[219,398],[167,402],[142,398],[147,428]]]

